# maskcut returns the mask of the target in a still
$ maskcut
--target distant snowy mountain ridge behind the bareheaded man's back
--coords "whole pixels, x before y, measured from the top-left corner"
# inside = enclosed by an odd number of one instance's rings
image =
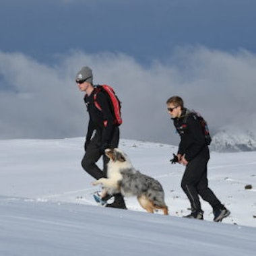
[[[256,136],[252,131],[228,127],[212,136],[210,149],[217,152],[256,151]]]

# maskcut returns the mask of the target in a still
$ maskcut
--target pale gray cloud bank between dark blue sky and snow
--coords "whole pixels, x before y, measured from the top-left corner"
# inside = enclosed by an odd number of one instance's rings
[[[125,139],[177,143],[165,104],[174,95],[201,113],[212,133],[226,125],[255,130],[254,53],[178,47],[166,59],[145,67],[123,53],[72,51],[49,65],[0,52],[0,139],[86,135],[84,95],[74,81],[84,65],[92,67],[94,84],[115,88]]]

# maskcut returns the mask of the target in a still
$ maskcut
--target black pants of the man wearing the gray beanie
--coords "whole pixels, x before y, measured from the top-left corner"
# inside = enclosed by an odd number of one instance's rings
[[[111,136],[109,143],[109,148],[117,148],[119,145],[119,127],[115,127],[113,135]],[[106,164],[108,162],[108,157],[103,156],[103,170],[98,168],[96,162],[100,159],[102,154],[100,153],[100,146],[102,143],[102,135],[100,132],[96,131],[94,137],[90,141],[86,148],[86,154],[82,159],[82,167],[88,174],[90,174],[94,179],[106,178]]]

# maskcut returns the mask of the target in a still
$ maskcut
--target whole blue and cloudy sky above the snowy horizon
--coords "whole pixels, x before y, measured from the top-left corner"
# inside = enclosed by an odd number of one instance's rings
[[[0,0],[0,139],[86,134],[75,73],[122,102],[121,137],[177,143],[179,95],[216,133],[256,128],[253,0]]]

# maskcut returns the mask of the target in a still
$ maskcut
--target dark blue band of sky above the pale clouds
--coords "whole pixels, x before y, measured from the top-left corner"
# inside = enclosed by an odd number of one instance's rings
[[[173,47],[256,51],[252,0],[1,0],[1,51],[51,63],[70,49],[122,52],[140,63]]]

